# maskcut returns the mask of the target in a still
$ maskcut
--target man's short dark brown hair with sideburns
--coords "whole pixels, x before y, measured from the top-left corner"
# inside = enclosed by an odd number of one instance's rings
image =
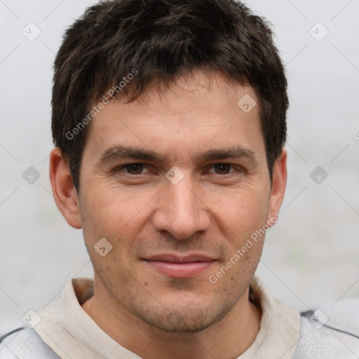
[[[54,69],[53,141],[77,191],[86,133],[98,110],[91,106],[114,97],[133,101],[155,79],[168,84],[194,69],[219,70],[255,88],[272,177],[285,144],[287,80],[269,25],[240,2],[102,1],[67,29]]]

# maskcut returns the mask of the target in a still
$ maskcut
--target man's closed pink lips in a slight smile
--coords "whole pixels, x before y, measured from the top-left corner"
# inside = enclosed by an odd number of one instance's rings
[[[216,262],[216,259],[196,253],[186,256],[165,253],[143,260],[156,271],[171,278],[193,278]]]

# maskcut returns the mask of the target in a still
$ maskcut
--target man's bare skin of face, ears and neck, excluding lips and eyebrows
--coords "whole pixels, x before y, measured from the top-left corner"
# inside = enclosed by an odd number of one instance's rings
[[[94,266],[95,294],[82,308],[142,358],[237,358],[259,331],[261,309],[248,293],[264,237],[217,283],[208,279],[283,201],[286,152],[271,181],[259,106],[245,113],[237,105],[245,94],[259,103],[251,86],[194,72],[135,102],[111,102],[90,124],[79,195],[60,149],[51,153],[55,201],[67,222],[83,229]],[[163,158],[104,156],[119,145]],[[198,158],[231,147],[245,156]],[[144,165],[124,166],[131,163]],[[177,184],[165,177],[172,166],[184,175]],[[112,245],[104,257],[94,249],[100,238]],[[169,252],[212,262],[192,278],[173,278],[144,260]]]

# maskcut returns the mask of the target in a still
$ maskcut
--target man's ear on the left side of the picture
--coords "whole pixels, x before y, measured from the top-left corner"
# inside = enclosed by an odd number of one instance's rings
[[[50,153],[50,182],[57,208],[70,226],[80,229],[79,198],[67,162],[58,147]]]

